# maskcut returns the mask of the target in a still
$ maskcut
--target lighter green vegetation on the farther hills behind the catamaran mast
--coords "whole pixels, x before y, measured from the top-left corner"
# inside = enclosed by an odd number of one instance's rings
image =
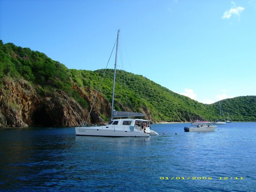
[[[80,87],[97,89],[103,69],[86,71],[70,69],[72,78]],[[113,69],[107,69],[100,92],[111,101]],[[207,105],[177,94],[146,77],[122,70],[116,72],[115,101],[140,111],[147,106],[157,121],[216,120],[220,118],[219,102]],[[126,104],[127,103],[127,104]],[[256,96],[237,97],[221,101],[225,118],[232,121],[256,121]],[[119,110],[118,105],[115,109]],[[242,115],[243,114],[243,115]],[[224,118],[222,116],[222,120]]]

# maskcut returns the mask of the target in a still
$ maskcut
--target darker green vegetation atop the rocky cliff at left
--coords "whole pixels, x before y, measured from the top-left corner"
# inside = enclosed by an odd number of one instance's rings
[[[3,76],[30,81],[36,85],[42,96],[52,94],[58,89],[63,90],[82,107],[88,107],[86,101],[72,89],[70,72],[65,65],[52,60],[44,53],[18,47],[12,43],[3,44],[0,40],[0,78]]]

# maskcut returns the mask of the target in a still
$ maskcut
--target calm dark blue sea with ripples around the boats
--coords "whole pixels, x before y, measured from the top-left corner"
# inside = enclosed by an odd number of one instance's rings
[[[256,191],[256,123],[218,125],[215,132],[151,126],[159,136],[0,129],[0,190]]]

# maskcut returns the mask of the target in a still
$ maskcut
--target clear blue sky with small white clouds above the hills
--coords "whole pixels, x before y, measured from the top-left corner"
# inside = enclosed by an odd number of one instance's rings
[[[255,23],[256,0],[0,1],[4,43],[97,70],[120,28],[118,69],[203,103],[256,95]]]

